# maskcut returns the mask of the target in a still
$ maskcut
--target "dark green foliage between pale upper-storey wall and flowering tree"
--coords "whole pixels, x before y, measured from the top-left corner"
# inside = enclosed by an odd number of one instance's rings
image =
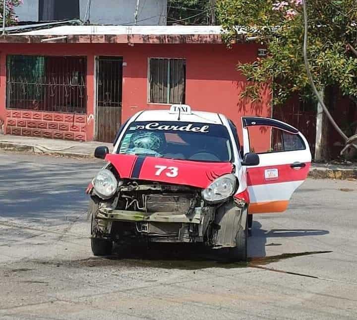
[[[216,0],[169,0],[167,23],[186,25],[216,24]]]

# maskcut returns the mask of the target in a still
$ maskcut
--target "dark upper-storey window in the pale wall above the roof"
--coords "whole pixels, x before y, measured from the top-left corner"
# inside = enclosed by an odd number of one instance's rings
[[[39,21],[79,19],[79,0],[39,0]]]

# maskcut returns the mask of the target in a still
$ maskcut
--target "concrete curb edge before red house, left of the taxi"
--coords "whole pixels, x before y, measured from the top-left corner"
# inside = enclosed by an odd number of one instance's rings
[[[15,142],[0,141],[0,150],[38,153],[38,154],[66,156],[66,157],[75,157],[75,158],[84,158],[84,159],[94,158],[94,156],[87,153],[47,150],[46,148],[41,147],[39,145],[23,144],[23,143],[15,143]]]

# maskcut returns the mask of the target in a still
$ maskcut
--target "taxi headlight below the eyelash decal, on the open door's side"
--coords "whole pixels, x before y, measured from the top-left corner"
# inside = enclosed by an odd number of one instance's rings
[[[202,191],[202,197],[207,202],[223,201],[235,192],[236,181],[235,175],[232,174],[219,177]]]

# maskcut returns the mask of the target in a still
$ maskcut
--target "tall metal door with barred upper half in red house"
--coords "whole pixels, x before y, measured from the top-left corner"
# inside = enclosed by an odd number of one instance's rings
[[[113,142],[121,122],[122,57],[99,57],[97,63],[96,139]]]

